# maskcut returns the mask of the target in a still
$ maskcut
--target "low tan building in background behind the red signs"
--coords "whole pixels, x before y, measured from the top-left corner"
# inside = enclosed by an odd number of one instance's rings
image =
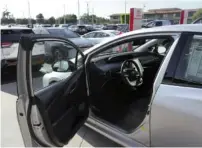
[[[199,9],[186,9],[188,10],[188,20],[187,23],[192,22],[192,16]],[[171,20],[175,24],[179,23],[180,13],[182,9],[179,8],[164,8],[164,9],[150,9],[147,12],[144,12],[144,19],[156,20],[156,19],[166,19]],[[125,16],[126,23],[129,23],[129,13],[119,13],[110,15],[110,21],[113,24],[125,24]]]

